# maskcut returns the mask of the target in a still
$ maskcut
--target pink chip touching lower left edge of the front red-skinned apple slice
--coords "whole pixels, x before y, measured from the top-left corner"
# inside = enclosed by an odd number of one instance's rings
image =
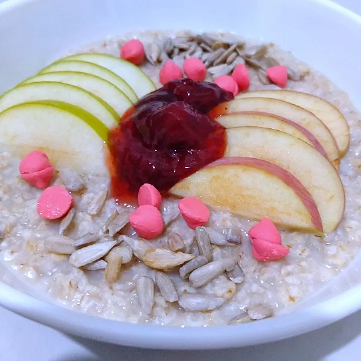
[[[207,223],[210,211],[207,206],[197,198],[185,197],[178,203],[179,211],[188,227],[195,229]]]

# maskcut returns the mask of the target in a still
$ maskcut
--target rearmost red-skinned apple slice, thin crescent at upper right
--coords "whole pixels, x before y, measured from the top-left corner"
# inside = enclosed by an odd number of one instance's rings
[[[280,99],[310,111],[330,130],[336,140],[340,156],[342,157],[346,153],[350,140],[347,120],[334,105],[326,100],[294,90],[259,90],[237,96],[237,98],[248,97]]]

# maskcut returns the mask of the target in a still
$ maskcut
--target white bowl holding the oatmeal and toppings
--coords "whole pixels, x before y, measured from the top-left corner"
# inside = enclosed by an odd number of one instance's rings
[[[361,18],[327,0],[7,1],[0,5],[0,93],[67,49],[127,31],[168,28],[227,30],[273,41],[325,73],[360,105]],[[0,305],[67,333],[121,345],[245,346],[314,330],[360,309],[360,267],[361,256],[318,294],[282,315],[237,326],[176,328],[92,317],[47,302],[3,268]]]

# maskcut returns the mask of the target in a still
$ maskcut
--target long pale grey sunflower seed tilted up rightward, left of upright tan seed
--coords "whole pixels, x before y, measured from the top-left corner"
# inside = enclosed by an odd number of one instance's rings
[[[116,244],[116,241],[108,241],[81,248],[71,254],[69,263],[75,267],[83,267],[105,256]]]

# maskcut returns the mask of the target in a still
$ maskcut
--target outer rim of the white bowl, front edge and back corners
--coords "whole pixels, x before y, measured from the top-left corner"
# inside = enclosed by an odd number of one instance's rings
[[[6,0],[0,18],[25,3]],[[303,0],[329,8],[361,27],[361,16],[331,0]],[[240,325],[203,327],[133,324],[90,316],[38,300],[0,281],[0,306],[21,316],[73,335],[133,347],[156,349],[216,349],[273,342],[312,331],[361,309],[361,284],[330,299],[294,312]]]

